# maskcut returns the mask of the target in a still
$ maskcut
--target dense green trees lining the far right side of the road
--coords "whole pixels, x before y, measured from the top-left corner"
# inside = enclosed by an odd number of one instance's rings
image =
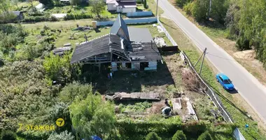
[[[212,19],[226,27],[227,37],[237,41],[236,47],[254,49],[266,69],[265,0],[176,0],[176,4],[197,22]]]

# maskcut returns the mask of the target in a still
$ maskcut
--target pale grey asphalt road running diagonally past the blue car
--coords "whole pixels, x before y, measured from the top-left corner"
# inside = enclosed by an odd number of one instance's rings
[[[207,48],[207,59],[216,66],[218,71],[229,76],[241,97],[266,122],[266,87],[236,62],[223,48],[184,17],[179,10],[176,10],[169,1],[159,0],[159,6],[165,10],[164,14],[171,18],[202,52],[204,48]]]

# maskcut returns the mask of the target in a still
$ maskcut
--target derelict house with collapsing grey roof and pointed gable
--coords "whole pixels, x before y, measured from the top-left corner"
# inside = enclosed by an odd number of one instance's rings
[[[162,57],[145,28],[127,27],[118,15],[111,31],[105,36],[94,38],[76,46],[71,64],[111,64],[113,71],[156,70]]]

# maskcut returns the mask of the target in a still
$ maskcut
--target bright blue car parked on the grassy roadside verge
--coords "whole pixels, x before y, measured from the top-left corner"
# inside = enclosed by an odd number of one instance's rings
[[[234,90],[235,86],[232,84],[232,81],[228,76],[225,76],[223,73],[218,73],[216,75],[218,83],[220,83],[225,90]]]

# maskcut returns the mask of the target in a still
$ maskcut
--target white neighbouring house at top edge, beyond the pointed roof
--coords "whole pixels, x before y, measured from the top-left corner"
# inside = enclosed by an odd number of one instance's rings
[[[136,12],[136,0],[106,0],[107,10],[118,13]]]

